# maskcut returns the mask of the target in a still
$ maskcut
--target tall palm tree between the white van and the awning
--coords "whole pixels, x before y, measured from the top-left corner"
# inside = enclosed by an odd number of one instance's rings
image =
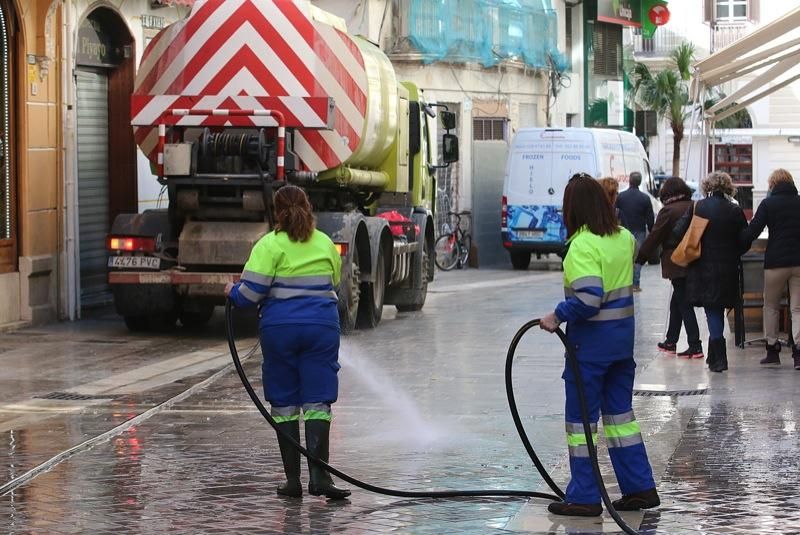
[[[661,118],[669,120],[672,128],[672,175],[680,176],[681,141],[683,124],[689,116],[688,81],[694,60],[694,45],[683,43],[670,54],[672,65],[653,74],[644,63],[633,66],[633,99],[641,107],[655,111]]]

